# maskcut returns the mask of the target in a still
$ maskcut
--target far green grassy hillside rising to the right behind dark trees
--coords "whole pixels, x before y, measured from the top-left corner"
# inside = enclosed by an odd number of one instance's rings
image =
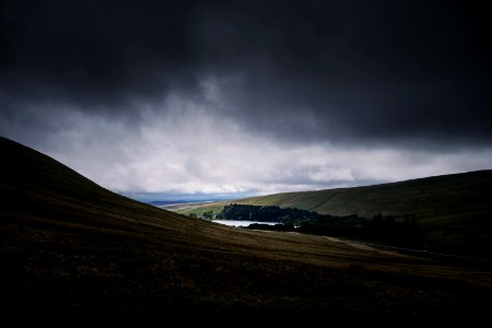
[[[492,169],[426,177],[393,184],[317,191],[284,192],[234,200],[237,203],[280,206],[321,214],[372,218],[376,213],[414,213],[433,222],[442,216],[485,212],[492,209]],[[214,202],[181,212],[204,210],[230,203]]]

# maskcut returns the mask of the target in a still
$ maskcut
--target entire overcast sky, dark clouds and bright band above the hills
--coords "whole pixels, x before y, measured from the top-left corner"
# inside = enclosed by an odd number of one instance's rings
[[[489,169],[473,2],[1,1],[0,134],[141,199]]]

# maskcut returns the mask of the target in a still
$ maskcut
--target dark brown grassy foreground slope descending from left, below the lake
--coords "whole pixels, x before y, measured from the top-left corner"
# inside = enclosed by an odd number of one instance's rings
[[[488,266],[226,227],[0,151],[4,327],[478,325],[492,305]]]

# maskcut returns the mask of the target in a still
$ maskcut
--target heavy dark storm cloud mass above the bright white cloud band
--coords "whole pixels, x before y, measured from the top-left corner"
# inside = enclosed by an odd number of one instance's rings
[[[208,81],[212,114],[276,139],[492,140],[479,2],[4,1],[0,24],[3,119],[31,102],[132,121]]]

